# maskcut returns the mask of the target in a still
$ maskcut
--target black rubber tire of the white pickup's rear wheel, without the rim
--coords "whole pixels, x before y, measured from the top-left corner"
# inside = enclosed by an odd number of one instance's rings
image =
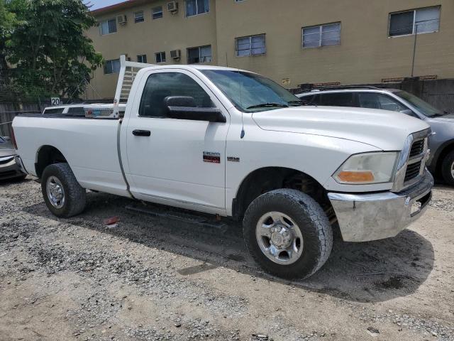
[[[65,193],[65,203],[61,208],[53,206],[48,198],[46,185],[50,176],[54,176],[62,183]],[[70,165],[67,163],[54,163],[44,169],[43,176],[41,177],[41,190],[45,204],[48,206],[50,212],[57,217],[69,218],[78,215],[87,205],[86,190],[79,185],[74,173],[71,171]]]

